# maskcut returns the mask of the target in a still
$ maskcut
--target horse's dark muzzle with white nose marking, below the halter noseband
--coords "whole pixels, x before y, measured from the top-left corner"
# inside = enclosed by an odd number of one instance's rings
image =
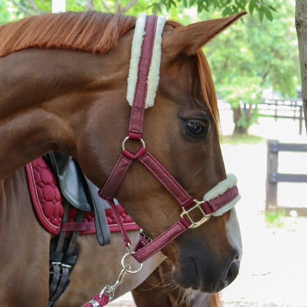
[[[216,293],[237,277],[242,257],[240,228],[235,209],[226,214],[227,217],[211,217],[205,226],[176,239],[179,253],[173,262],[172,278],[177,285]],[[216,234],[221,224],[225,232]]]

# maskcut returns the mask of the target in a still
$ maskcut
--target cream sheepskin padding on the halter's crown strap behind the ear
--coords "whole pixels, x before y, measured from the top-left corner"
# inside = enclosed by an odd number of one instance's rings
[[[135,87],[138,78],[138,64],[141,55],[141,48],[143,43],[143,36],[145,34],[144,28],[146,24],[146,13],[139,15],[135,31],[132,40],[131,47],[131,59],[130,68],[128,76],[128,88],[127,88],[127,101],[132,106]],[[153,43],[153,56],[152,63],[149,69],[148,79],[147,79],[147,96],[145,102],[145,108],[153,106],[156,90],[159,83],[159,73],[160,73],[160,61],[161,61],[161,42],[162,42],[162,31],[166,22],[166,17],[160,15],[157,19],[155,37]]]

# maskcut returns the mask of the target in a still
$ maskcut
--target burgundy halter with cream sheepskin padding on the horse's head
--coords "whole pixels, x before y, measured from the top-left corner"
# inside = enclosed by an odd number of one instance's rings
[[[125,245],[128,248],[129,256],[133,256],[140,263],[153,256],[188,228],[199,227],[204,224],[211,215],[218,216],[230,210],[240,199],[236,186],[237,178],[232,174],[228,174],[225,180],[218,183],[205,194],[202,201],[194,200],[163,165],[161,165],[145,148],[145,143],[142,139],[144,111],[145,108],[153,105],[155,98],[159,81],[161,35],[165,22],[166,18],[164,16],[147,16],[146,13],[142,13],[137,19],[132,42],[127,89],[127,100],[130,105],[132,105],[129,133],[122,144],[123,152],[106,183],[99,192],[102,199],[104,199],[113,210],[123,235]],[[131,153],[125,149],[125,143],[128,139],[142,142],[141,149],[136,153]],[[173,195],[182,206],[182,213],[180,219],[174,225],[154,240],[151,240],[141,232],[140,240],[134,251],[131,252],[131,242],[116,209],[113,198],[125,173],[135,158],[148,168],[168,192]],[[199,221],[194,221],[191,217],[191,212],[194,210],[202,212],[203,217]],[[127,256],[127,254],[125,256]],[[123,273],[123,271],[125,273]],[[119,274],[119,279],[121,280],[123,274],[125,275],[126,273],[127,270],[123,265],[123,269]],[[114,285],[117,285],[117,281]],[[111,299],[111,295],[108,294],[108,291],[112,291],[113,288],[112,286],[106,287],[108,290],[102,291],[100,298],[107,295],[107,297]],[[92,306],[100,306],[95,305],[96,302],[97,301],[91,302]]]

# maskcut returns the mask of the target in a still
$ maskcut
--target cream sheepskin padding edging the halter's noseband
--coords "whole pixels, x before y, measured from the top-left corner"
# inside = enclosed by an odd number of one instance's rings
[[[221,182],[219,182],[214,188],[212,188],[210,191],[208,191],[204,196],[204,202],[209,201],[213,198],[216,198],[219,195],[222,195],[224,192],[226,192],[228,189],[234,187],[237,184],[237,177],[234,174],[227,174],[227,178]],[[232,200],[227,205],[224,205],[220,209],[218,209],[216,212],[212,213],[213,216],[219,216],[223,213],[230,210],[232,207],[234,207],[238,201],[240,200],[241,195],[239,194],[234,200]]]

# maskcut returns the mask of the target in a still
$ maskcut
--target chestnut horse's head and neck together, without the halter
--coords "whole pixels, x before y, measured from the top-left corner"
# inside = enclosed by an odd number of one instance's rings
[[[13,154],[14,162],[3,163],[1,178],[48,151],[60,151],[77,159],[86,176],[102,188],[122,152],[131,113],[126,89],[135,19],[119,25],[120,18],[126,17],[107,15],[111,22],[102,26],[97,25],[102,19],[98,13],[80,13],[76,18],[75,14],[21,20],[15,32],[14,25],[0,28],[0,37],[5,38],[4,49],[0,48],[1,72],[6,75],[2,86],[8,89],[3,110],[7,110],[5,103],[15,109],[1,113],[3,135],[14,130],[0,152],[1,161]],[[216,95],[201,47],[243,14],[189,26],[167,21],[162,32],[159,83],[154,105],[145,110],[143,139],[197,200],[226,179]],[[43,32],[38,30],[42,24]],[[105,47],[107,34],[100,31],[117,37]],[[16,122],[23,123],[23,128]],[[140,144],[129,141],[126,147],[135,153]],[[137,160],[115,197],[151,238],[182,213],[174,197]],[[200,219],[198,212],[193,215]],[[223,289],[237,276],[242,255],[235,209],[187,230],[162,252],[171,260],[172,276],[179,286],[206,293]]]

